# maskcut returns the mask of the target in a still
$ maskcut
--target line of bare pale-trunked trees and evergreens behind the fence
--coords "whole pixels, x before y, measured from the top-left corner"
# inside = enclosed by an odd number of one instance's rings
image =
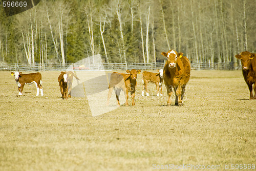
[[[190,62],[234,62],[256,46],[254,0],[41,0],[6,17],[0,7],[0,62],[159,62],[174,49]]]

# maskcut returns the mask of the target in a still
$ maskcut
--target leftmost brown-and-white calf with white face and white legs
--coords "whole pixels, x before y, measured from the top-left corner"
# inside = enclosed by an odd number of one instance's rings
[[[36,96],[39,95],[39,90],[41,92],[41,96],[44,96],[42,93],[42,76],[39,72],[30,73],[30,74],[22,74],[22,72],[11,72],[14,75],[15,81],[18,85],[18,95],[22,96],[22,91],[25,84],[35,83],[36,86]]]

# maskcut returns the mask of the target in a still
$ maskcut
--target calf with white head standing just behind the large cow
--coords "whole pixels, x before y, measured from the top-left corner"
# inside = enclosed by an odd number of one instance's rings
[[[160,96],[163,95],[162,93],[162,83],[163,83],[163,69],[157,70],[158,73],[148,72],[144,71],[142,73],[142,82],[143,82],[143,88],[142,88],[142,96],[144,96],[144,90],[146,90],[146,95],[149,96],[147,91],[147,84],[148,82],[152,82],[156,84],[157,87],[157,96],[159,96],[159,88],[160,88]]]

